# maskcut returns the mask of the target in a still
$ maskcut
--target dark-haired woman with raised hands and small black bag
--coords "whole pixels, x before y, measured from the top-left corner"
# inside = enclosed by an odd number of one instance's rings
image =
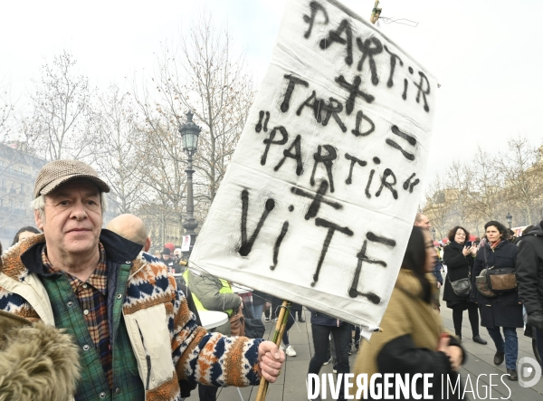
[[[479,335],[479,311],[477,304],[470,300],[470,294],[457,295],[452,290],[451,282],[472,277],[473,258],[477,255],[477,246],[466,246],[466,240],[470,233],[465,228],[457,225],[449,231],[449,244],[443,251],[443,263],[447,265],[447,279],[443,291],[443,301],[447,301],[447,308],[452,309],[452,322],[454,333],[462,340],[462,314],[468,310],[468,317],[472,325],[472,339],[479,344],[486,344]]]

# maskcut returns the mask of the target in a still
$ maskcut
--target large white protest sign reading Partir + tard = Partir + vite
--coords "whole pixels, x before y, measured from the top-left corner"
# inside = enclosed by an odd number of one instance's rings
[[[422,196],[436,91],[345,6],[290,0],[191,265],[377,329]]]

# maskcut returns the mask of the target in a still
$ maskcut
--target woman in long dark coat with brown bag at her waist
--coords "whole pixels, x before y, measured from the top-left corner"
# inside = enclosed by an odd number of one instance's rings
[[[479,303],[481,326],[486,327],[496,346],[494,364],[505,366],[510,380],[518,380],[517,358],[519,357],[519,339],[517,329],[524,326],[522,305],[517,290],[504,291],[494,298],[485,297],[475,287],[475,277],[482,269],[489,267],[510,267],[517,269],[519,247],[508,241],[509,230],[505,225],[490,221],[484,224],[487,242],[481,246],[472,273],[472,300]],[[503,328],[501,336],[500,328]]]

